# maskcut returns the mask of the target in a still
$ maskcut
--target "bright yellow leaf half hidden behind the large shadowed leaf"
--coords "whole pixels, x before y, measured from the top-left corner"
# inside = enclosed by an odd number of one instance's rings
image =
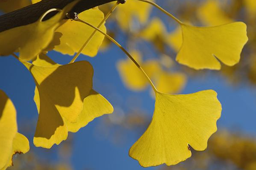
[[[93,119],[104,114],[113,113],[113,106],[101,94],[94,90],[84,99],[84,108],[76,123],[66,122],[69,132],[77,132]]]

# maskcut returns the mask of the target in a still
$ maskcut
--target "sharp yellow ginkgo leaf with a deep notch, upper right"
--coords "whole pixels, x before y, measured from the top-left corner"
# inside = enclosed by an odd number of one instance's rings
[[[183,44],[176,60],[196,70],[219,70],[221,64],[235,65],[248,40],[246,25],[242,22],[214,27],[195,27],[181,24]]]

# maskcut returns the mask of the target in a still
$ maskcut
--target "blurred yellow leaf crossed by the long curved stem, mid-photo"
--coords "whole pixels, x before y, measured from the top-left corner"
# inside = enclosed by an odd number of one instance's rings
[[[152,77],[160,69],[160,66],[155,61],[142,64],[141,54],[138,51],[131,51],[131,55],[142,65],[149,77]],[[130,59],[119,61],[117,69],[124,84],[131,90],[141,91],[148,86],[147,79]]]

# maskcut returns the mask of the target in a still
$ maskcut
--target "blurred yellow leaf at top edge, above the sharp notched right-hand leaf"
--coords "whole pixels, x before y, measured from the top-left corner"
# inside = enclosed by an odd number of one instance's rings
[[[198,8],[197,16],[206,26],[218,26],[233,22],[221,10],[219,3],[218,0],[207,0]]]

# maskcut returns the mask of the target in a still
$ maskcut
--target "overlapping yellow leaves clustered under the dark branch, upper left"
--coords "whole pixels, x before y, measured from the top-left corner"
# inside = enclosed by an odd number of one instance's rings
[[[38,1],[33,0],[32,2],[36,3]],[[94,30],[79,22],[63,20],[67,11],[70,11],[77,2],[70,3],[61,12],[44,22],[42,22],[43,15],[35,23],[1,32],[0,56],[19,52],[21,59],[31,60],[43,51],[52,50],[47,48],[50,43],[54,44],[54,50],[63,54],[73,55],[75,52],[78,52],[84,40],[88,39]],[[98,8],[92,8],[80,13],[79,17],[98,26],[104,18],[104,14]],[[104,24],[101,29],[106,32]],[[19,38],[17,39],[17,37]],[[94,57],[103,39],[104,35],[96,33],[87,44],[87,48],[82,51],[82,54]]]

